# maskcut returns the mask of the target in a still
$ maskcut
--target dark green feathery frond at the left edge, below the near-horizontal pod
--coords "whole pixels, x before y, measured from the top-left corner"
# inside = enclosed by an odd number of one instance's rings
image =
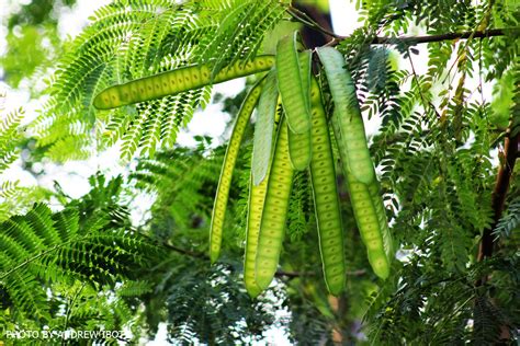
[[[11,311],[13,319],[48,322],[52,282],[79,279],[91,287],[113,286],[137,279],[136,270],[160,253],[157,244],[128,227],[127,210],[114,201],[121,177],[106,186],[101,176],[93,180],[99,185],[61,211],[35,204],[0,224],[2,310]]]

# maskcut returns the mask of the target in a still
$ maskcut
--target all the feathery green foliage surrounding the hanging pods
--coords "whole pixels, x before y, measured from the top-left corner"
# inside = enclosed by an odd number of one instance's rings
[[[124,176],[93,175],[81,198],[59,184],[26,188],[3,180],[2,334],[44,326],[125,330],[128,342],[152,338],[163,323],[180,344],[251,343],[273,326],[301,344],[518,341],[518,166],[498,219],[493,204],[497,166],[508,159],[504,140],[520,132],[515,2],[358,1],[360,28],[334,41],[325,35],[344,55],[363,114],[377,126],[371,153],[399,244],[393,274],[381,281],[370,270],[339,175],[350,269],[348,289],[327,296],[309,177],[302,173],[276,282],[255,301],[240,278],[252,131],[231,184],[224,258],[210,266],[207,232],[225,148],[211,149],[215,139],[205,137],[195,148],[174,142],[211,102],[211,88],[104,112],[93,108],[92,97],[113,83],[181,65],[210,62],[217,72],[272,53],[294,25],[324,35],[319,10],[306,1],[118,0],[63,42],[54,5],[31,1],[7,22],[3,80],[16,88],[55,71],[44,91],[31,88],[34,97],[48,95],[34,122],[22,123],[23,109],[2,113],[0,173],[20,163],[37,175],[35,162],[87,159],[112,146],[133,161]],[[516,30],[428,44],[395,38],[504,27]],[[376,36],[391,38],[374,45]],[[244,94],[214,101],[233,118]],[[139,196],[152,203],[136,222],[131,214]],[[494,255],[479,261],[481,240],[490,232]]]

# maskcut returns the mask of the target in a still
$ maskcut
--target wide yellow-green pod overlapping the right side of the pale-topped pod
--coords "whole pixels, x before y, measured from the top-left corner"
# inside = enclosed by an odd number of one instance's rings
[[[294,171],[289,159],[287,124],[282,118],[269,173],[255,265],[257,285],[265,289],[276,273],[287,219]]]

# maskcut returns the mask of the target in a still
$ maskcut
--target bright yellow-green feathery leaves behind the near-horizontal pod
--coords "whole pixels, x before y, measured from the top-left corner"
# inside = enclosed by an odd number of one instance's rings
[[[34,124],[39,146],[49,146],[55,160],[82,159],[118,140],[125,159],[171,147],[208,102],[210,88],[110,112],[95,112],[93,97],[114,83],[180,66],[212,62],[216,73],[250,59],[286,7],[274,0],[118,0],[99,9],[58,66],[52,99]]]

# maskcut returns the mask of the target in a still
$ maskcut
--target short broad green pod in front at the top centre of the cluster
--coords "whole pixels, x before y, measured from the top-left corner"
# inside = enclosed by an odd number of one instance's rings
[[[302,84],[299,59],[296,50],[297,32],[285,36],[276,45],[278,86],[291,130],[295,134],[310,129],[308,99]]]

